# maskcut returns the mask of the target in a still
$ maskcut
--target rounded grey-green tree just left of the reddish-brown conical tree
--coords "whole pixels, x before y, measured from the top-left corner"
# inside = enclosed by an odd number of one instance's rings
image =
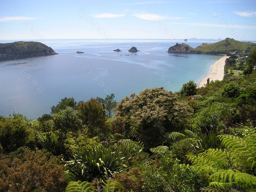
[[[75,132],[82,128],[82,121],[78,116],[78,111],[72,107],[66,107],[53,114],[53,129],[60,131],[64,135],[69,132]]]

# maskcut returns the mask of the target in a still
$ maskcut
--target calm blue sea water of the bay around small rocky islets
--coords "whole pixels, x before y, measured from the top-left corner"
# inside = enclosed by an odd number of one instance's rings
[[[8,41],[0,41],[4,42]],[[0,116],[16,112],[37,118],[50,113],[64,97],[86,101],[114,93],[119,101],[131,93],[160,86],[176,92],[183,83],[202,79],[221,57],[167,53],[175,43],[159,39],[117,39],[111,43],[60,39],[43,43],[59,54],[0,61]],[[192,47],[202,43],[188,42]],[[140,52],[129,53],[132,46]],[[113,52],[117,48],[122,52]]]

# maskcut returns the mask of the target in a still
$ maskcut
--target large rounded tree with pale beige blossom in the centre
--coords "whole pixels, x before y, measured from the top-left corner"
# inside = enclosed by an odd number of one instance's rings
[[[115,113],[124,119],[127,132],[151,148],[162,144],[166,132],[183,129],[190,111],[171,91],[159,87],[125,97]]]

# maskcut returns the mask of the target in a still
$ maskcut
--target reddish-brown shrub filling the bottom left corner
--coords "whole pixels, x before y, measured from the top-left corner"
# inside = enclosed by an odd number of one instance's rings
[[[0,157],[1,192],[63,192],[66,184],[63,166],[50,154],[20,148]]]

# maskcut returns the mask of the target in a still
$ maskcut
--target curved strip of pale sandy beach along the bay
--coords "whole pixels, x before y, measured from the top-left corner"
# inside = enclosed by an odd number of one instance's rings
[[[210,78],[210,81],[215,81],[215,80],[222,80],[224,77],[224,65],[225,65],[225,60],[229,58],[229,56],[223,56],[221,57],[218,61],[216,61],[212,65],[212,69],[209,75],[204,77],[203,79],[200,80],[198,86],[203,87],[204,84],[207,83],[207,78]]]

